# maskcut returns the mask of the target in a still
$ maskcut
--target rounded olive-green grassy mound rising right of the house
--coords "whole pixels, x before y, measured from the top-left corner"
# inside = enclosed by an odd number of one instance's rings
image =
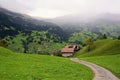
[[[120,40],[98,40],[91,45],[91,50],[88,52],[88,46],[81,49],[75,57],[89,57],[102,55],[120,54]]]

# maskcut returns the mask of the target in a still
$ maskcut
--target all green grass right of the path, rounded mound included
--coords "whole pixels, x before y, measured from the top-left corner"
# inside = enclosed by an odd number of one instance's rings
[[[120,40],[99,40],[92,44],[91,51],[84,47],[75,57],[100,65],[120,78]]]

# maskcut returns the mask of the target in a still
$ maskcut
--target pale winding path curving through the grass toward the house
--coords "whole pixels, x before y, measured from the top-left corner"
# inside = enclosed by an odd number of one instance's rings
[[[77,58],[70,58],[72,61],[77,62],[79,64],[83,64],[91,68],[95,74],[93,80],[120,80],[116,76],[114,76],[110,71],[106,70],[103,67],[100,67],[96,64],[79,60]]]

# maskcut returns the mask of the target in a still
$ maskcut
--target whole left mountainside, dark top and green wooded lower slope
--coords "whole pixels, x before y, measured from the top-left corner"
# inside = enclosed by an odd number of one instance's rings
[[[67,40],[66,32],[53,23],[0,8],[0,44],[24,53],[59,52]]]

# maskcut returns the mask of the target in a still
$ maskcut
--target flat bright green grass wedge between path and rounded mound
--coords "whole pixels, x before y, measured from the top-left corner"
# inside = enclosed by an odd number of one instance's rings
[[[120,78],[120,54],[109,56],[85,57],[80,59],[100,65],[110,70],[113,74]]]

